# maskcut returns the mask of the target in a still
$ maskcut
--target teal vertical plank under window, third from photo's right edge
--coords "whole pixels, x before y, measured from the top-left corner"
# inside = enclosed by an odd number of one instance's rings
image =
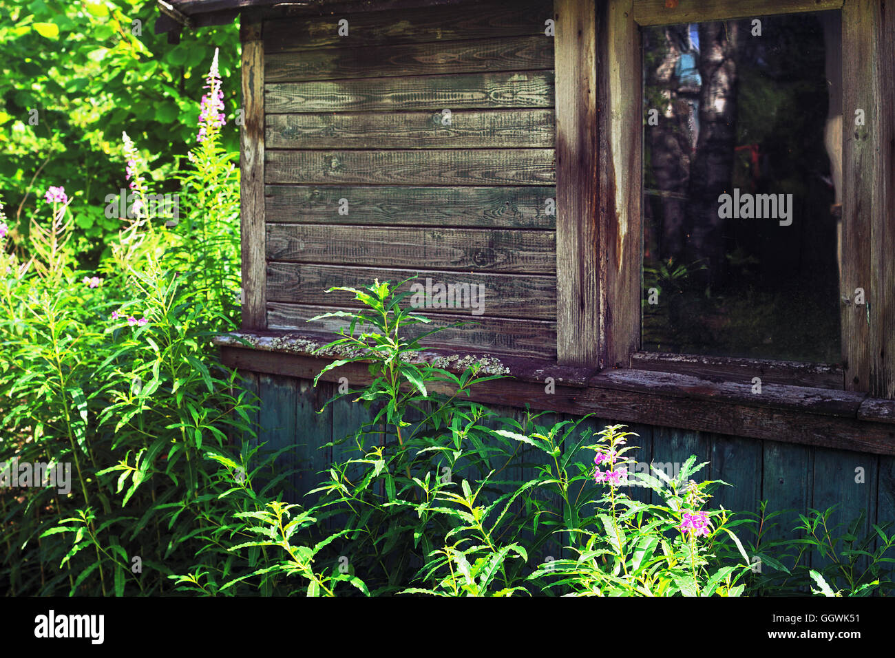
[[[805,514],[811,505],[811,491],[814,488],[813,449],[779,441],[763,443],[762,500],[767,500],[766,511],[768,514],[791,511],[768,522],[763,531],[762,542],[801,537],[801,533],[793,534],[792,528],[798,523],[798,515]],[[758,528],[755,527],[755,532],[757,531]],[[759,550],[762,550],[761,544]],[[781,561],[787,568],[795,566],[795,560]]]

